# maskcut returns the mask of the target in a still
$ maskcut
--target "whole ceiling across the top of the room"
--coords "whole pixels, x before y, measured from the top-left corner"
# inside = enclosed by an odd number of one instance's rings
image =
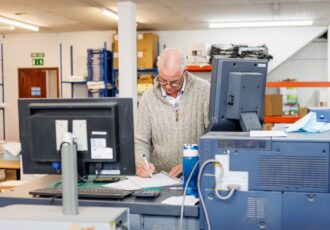
[[[0,15],[40,27],[40,32],[116,30],[101,8],[116,0],[0,0]],[[313,19],[330,24],[330,0],[136,0],[138,30],[208,29],[208,22]],[[0,23],[0,33],[31,32]]]

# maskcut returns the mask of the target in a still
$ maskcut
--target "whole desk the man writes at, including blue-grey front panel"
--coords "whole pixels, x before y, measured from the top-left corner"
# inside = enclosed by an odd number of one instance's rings
[[[60,176],[45,176],[0,193],[0,207],[11,204],[62,205],[62,199],[33,198],[29,191],[46,187],[59,180]],[[143,199],[130,196],[124,200],[88,200],[80,199],[79,206],[125,207],[130,210],[131,229],[177,229],[180,219],[180,206],[162,204],[170,196],[180,196],[182,191],[163,188],[155,199]],[[184,229],[199,229],[198,206],[186,206]]]

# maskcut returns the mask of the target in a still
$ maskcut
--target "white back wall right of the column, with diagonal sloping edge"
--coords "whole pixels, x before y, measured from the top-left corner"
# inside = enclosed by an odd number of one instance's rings
[[[312,42],[327,27],[286,27],[217,29],[199,31],[159,31],[160,48],[174,47],[188,53],[193,43],[266,44],[274,59],[269,62],[268,81],[296,78],[299,81],[328,81],[327,42]],[[210,80],[210,73],[196,75]],[[301,105],[316,106],[316,92],[323,89],[299,88]],[[271,91],[276,92],[276,90]]]

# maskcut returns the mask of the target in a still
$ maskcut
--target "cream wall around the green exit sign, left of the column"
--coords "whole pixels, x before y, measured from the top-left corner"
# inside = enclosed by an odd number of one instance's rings
[[[70,45],[73,45],[74,74],[87,75],[87,48],[103,48],[107,42],[111,49],[113,31],[76,33],[31,33],[6,35],[4,43],[4,72],[6,100],[7,140],[18,140],[18,68],[31,68],[31,52],[44,52],[43,67],[60,67],[62,44],[63,78],[70,75]],[[86,89],[77,87],[76,97],[86,96]],[[70,85],[63,86],[63,97],[70,97]],[[10,127],[10,128],[9,128]]]

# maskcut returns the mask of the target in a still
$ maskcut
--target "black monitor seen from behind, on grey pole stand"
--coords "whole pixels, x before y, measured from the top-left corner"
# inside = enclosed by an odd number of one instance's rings
[[[129,98],[19,99],[23,171],[59,174],[62,136],[76,137],[78,175],[134,175]]]

